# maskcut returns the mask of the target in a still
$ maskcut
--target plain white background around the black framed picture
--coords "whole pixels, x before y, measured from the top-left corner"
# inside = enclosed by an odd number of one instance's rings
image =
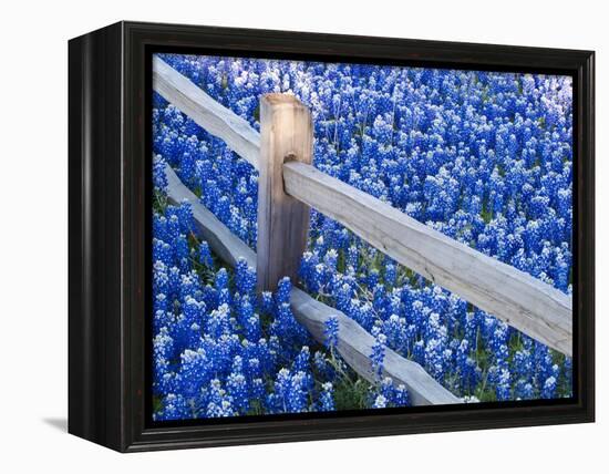
[[[340,4],[342,3],[342,4]],[[609,422],[609,53],[600,1],[147,0],[3,2],[0,55],[0,470],[12,472],[599,472]],[[68,48],[143,20],[597,51],[598,422],[118,455],[65,433]],[[34,471],[35,470],[35,471]]]

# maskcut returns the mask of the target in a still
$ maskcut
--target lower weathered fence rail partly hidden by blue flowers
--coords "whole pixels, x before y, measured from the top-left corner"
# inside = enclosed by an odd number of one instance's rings
[[[235,266],[244,257],[251,267],[256,267],[256,253],[236,237],[198,198],[179,181],[175,172],[166,166],[167,196],[173,204],[186,200],[193,206],[195,231],[207,240],[214,251],[229,266]],[[304,291],[292,288],[290,302],[296,319],[304,326],[311,336],[323,343],[324,322],[330,316],[339,321],[337,350],[350,367],[365,380],[374,380],[369,356],[372,353],[374,338],[348,316],[320,301]],[[402,358],[386,349],[384,374],[395,383],[403,383],[410,392],[414,405],[460,403],[461,400],[444,389],[421,365]]]

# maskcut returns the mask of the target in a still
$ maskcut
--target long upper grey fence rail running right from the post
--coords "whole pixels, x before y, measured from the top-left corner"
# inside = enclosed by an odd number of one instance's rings
[[[427,227],[373,196],[316,169],[283,165],[286,193],[433,282],[531,338],[571,356],[571,298]]]

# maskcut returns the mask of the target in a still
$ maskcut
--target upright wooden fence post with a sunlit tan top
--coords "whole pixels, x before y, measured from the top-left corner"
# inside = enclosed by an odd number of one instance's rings
[[[272,291],[277,281],[297,281],[307,247],[310,207],[283,190],[283,162],[311,164],[311,113],[293,95],[266,94],[260,100],[258,182],[258,291]]]

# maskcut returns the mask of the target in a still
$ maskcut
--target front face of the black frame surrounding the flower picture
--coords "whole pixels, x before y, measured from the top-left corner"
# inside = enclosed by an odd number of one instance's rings
[[[146,296],[145,279],[147,276],[137,265],[144,265],[142,259],[146,257],[145,241],[147,236],[143,216],[147,213],[145,208],[146,198],[142,196],[146,189],[144,168],[146,166],[146,147],[141,143],[142,134],[145,135],[147,126],[142,94],[149,91],[142,91],[142,84],[146,83],[145,48],[154,44],[159,47],[180,48],[216,48],[225,51],[240,51],[247,54],[248,51],[268,51],[271,53],[292,54],[296,50],[307,51],[311,54],[334,54],[340,55],[342,51],[352,51],[351,58],[360,58],[361,52],[354,51],[358,41],[372,44],[375,49],[370,58],[388,59],[403,58],[404,61],[413,60],[415,51],[420,48],[424,60],[430,65],[447,61],[454,54],[461,54],[464,68],[467,64],[492,65],[504,64],[509,68],[534,68],[536,60],[541,60],[540,69],[556,66],[569,71],[586,69],[584,72],[587,80],[580,83],[584,92],[584,111],[588,115],[582,117],[581,125],[584,133],[578,137],[588,146],[588,153],[582,154],[581,159],[586,163],[585,181],[591,187],[586,195],[580,195],[579,206],[584,205],[584,198],[590,200],[591,207],[584,216],[585,236],[593,240],[593,53],[572,50],[549,50],[524,47],[496,47],[488,44],[452,43],[436,41],[416,41],[398,39],[379,39],[369,37],[343,37],[332,34],[314,34],[298,32],[281,32],[266,30],[239,30],[221,29],[210,27],[185,27],[167,25],[155,23],[122,22],[121,24],[121,61],[122,73],[120,79],[121,89],[121,172],[120,172],[120,202],[110,203],[109,209],[121,208],[121,239],[120,239],[120,281],[118,290],[121,298],[117,342],[106,340],[106,343],[118,346],[113,349],[113,357],[118,362],[106,364],[102,370],[118,370],[120,381],[109,393],[118,395],[118,406],[109,410],[117,418],[118,435],[111,447],[126,452],[151,451],[158,449],[183,449],[219,446],[233,444],[272,443],[282,441],[310,441],[324,439],[343,439],[360,436],[376,436],[389,434],[406,434],[422,432],[462,431],[477,429],[530,426],[545,424],[564,424],[593,421],[593,286],[588,288],[586,297],[591,299],[591,312],[581,316],[586,321],[579,334],[580,338],[591,337],[591,347],[586,349],[586,367],[582,370],[580,383],[585,384],[585,399],[580,398],[579,403],[564,403],[556,406],[517,406],[517,408],[493,408],[479,410],[454,410],[433,413],[411,413],[395,415],[353,416],[337,419],[310,419],[310,420],[286,420],[259,423],[233,423],[223,425],[205,426],[179,426],[179,427],[147,427],[145,418],[145,403],[142,391],[146,389],[144,358],[146,348],[145,338],[148,334],[144,331],[146,315],[144,313],[145,302],[142,295]],[[247,39],[248,34],[255,38]],[[286,38],[293,38],[293,43],[286,42]],[[244,39],[246,38],[247,41]],[[322,44],[323,43],[323,44]],[[499,55],[506,54],[500,59]],[[537,58],[543,56],[543,58]],[[503,61],[503,62],[502,62]],[[469,65],[469,68],[472,68]],[[588,109],[586,109],[588,107]],[[140,143],[137,143],[140,141]],[[142,162],[144,161],[144,162]],[[580,189],[581,192],[581,189]],[[590,234],[591,233],[591,234]],[[589,266],[585,269],[588,281],[593,285],[593,249],[588,255]],[[114,287],[113,287],[114,288]],[[590,302],[588,302],[590,305]],[[109,315],[106,315],[109,316]],[[111,331],[116,336],[114,330]],[[106,336],[111,336],[110,332]],[[580,339],[581,340],[581,339]],[[116,356],[117,354],[117,356]],[[110,361],[106,361],[110,362]],[[112,381],[112,379],[111,379]],[[113,382],[113,383],[114,383]],[[113,422],[114,427],[116,421]],[[116,431],[115,431],[116,433]],[[106,444],[109,445],[109,444]]]

